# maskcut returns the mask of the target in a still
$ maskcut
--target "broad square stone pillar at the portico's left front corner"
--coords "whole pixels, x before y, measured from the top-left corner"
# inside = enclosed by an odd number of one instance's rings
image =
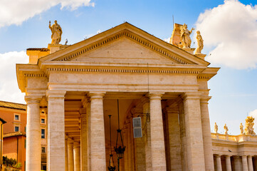
[[[48,90],[48,170],[65,170],[65,91]]]

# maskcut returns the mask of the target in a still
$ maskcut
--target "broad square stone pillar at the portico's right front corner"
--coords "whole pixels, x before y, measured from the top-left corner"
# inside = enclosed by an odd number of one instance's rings
[[[184,94],[188,170],[205,170],[199,93]]]

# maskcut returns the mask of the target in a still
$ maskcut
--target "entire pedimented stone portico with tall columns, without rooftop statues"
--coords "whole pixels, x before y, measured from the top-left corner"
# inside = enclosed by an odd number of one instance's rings
[[[115,144],[117,99],[127,146],[120,170],[214,170],[207,82],[219,68],[128,23],[48,50],[30,48],[30,63],[16,65],[28,105],[26,170],[40,170],[41,108],[48,170],[107,170],[110,149],[117,167],[108,126],[112,115]]]

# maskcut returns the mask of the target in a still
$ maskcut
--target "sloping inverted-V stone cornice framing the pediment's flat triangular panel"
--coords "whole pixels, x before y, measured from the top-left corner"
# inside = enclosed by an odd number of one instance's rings
[[[41,67],[44,61],[71,61],[78,56],[94,51],[97,48],[106,46],[113,41],[117,41],[119,38],[129,38],[135,43],[139,43],[145,48],[149,48],[152,51],[159,53],[166,58],[179,64],[199,64],[202,66],[208,66],[209,63],[198,58],[187,51],[184,51],[170,43],[162,41],[161,39],[150,35],[140,28],[132,26],[131,24],[121,24],[115,28],[99,33],[91,38],[88,38],[79,43],[75,43],[67,48],[56,53],[51,53],[48,56],[40,58],[38,64]]]

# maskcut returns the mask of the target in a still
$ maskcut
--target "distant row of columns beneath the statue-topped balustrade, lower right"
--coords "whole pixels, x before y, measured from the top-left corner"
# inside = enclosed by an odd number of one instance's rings
[[[257,166],[256,157],[253,155],[219,155],[214,154],[216,171],[253,171]],[[254,161],[254,163],[253,163]],[[254,165],[253,165],[254,164]],[[256,170],[256,169],[255,169]]]

